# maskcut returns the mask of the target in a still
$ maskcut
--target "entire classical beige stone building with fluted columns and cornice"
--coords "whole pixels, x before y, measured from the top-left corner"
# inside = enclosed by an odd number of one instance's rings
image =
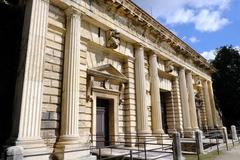
[[[214,68],[130,0],[22,3],[8,154],[79,158],[96,135],[131,142],[134,134],[193,137],[221,125]]]

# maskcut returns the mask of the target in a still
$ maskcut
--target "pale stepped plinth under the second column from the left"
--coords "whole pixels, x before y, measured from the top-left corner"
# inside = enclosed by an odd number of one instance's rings
[[[90,157],[90,150],[80,144],[57,144],[54,155],[58,160],[87,159]],[[91,157],[94,159],[94,157]]]

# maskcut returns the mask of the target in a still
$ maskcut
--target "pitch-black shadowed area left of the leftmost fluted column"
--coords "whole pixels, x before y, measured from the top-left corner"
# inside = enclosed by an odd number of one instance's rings
[[[10,136],[12,124],[22,17],[22,9],[0,1],[0,149]]]

